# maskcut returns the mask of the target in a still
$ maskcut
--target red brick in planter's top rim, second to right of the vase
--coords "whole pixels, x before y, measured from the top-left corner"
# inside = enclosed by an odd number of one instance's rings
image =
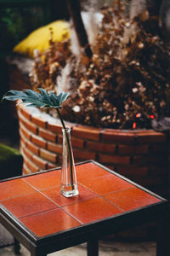
[[[102,142],[105,143],[135,143],[134,131],[105,129],[102,133]]]

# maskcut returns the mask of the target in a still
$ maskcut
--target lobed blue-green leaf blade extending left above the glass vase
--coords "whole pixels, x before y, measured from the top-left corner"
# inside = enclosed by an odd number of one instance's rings
[[[16,101],[22,100],[21,103],[28,103],[26,106],[39,107],[39,108],[60,108],[62,102],[70,95],[69,92],[61,92],[57,96],[54,91],[47,91],[45,89],[39,88],[41,93],[37,93],[34,90],[26,89],[20,90],[8,90],[8,92],[3,96],[3,100]]]

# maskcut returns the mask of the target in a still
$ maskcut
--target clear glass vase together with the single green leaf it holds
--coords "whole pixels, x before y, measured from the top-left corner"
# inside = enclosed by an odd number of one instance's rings
[[[65,123],[59,112],[59,108],[61,108],[61,104],[65,102],[69,96],[69,92],[61,92],[57,96],[53,91],[47,92],[47,90],[42,88],[39,90],[41,93],[37,93],[33,90],[9,90],[8,93],[3,96],[3,100],[21,100],[22,103],[26,103],[26,106],[28,107],[56,109],[60,122],[63,126],[63,160],[61,169],[60,192],[66,197],[78,195],[76,170],[71,148],[71,129],[65,127]]]

